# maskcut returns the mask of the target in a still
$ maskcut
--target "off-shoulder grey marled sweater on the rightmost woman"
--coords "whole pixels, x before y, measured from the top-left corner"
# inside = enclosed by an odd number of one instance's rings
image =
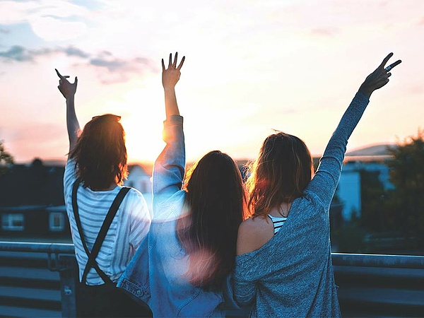
[[[329,208],[346,144],[368,99],[357,93],[314,178],[295,199],[281,230],[256,251],[236,258],[235,300],[252,303],[252,317],[340,317],[331,264]]]

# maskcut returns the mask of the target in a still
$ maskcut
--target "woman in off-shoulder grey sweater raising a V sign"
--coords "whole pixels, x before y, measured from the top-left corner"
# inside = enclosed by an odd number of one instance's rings
[[[248,180],[253,217],[239,228],[235,300],[252,317],[339,317],[331,265],[329,208],[349,136],[371,93],[389,82],[389,54],[367,76],[341,118],[313,176],[310,151],[296,136],[268,136]],[[313,178],[312,178],[313,176]]]

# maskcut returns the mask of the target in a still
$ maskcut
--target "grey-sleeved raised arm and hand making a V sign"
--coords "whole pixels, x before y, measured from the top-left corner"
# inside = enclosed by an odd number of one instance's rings
[[[348,139],[358,124],[360,117],[362,117],[371,94],[389,83],[389,77],[391,76],[389,71],[401,63],[401,60],[398,60],[384,68],[392,55],[393,53],[387,55],[377,69],[365,78],[351,105],[341,117],[336,131],[331,136],[324,155],[322,155],[317,173],[307,187],[307,190],[316,193],[326,205],[331,204],[331,199],[336,191]]]

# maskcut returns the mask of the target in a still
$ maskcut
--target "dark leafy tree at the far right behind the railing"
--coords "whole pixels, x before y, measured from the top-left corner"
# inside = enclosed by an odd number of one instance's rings
[[[389,148],[392,204],[404,235],[413,239],[413,248],[424,249],[424,129],[410,136],[396,148]]]

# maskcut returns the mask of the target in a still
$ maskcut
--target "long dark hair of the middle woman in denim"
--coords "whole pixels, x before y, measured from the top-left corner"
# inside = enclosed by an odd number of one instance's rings
[[[187,172],[185,206],[177,235],[189,255],[187,277],[204,289],[220,288],[235,264],[237,230],[245,218],[246,195],[240,170],[220,151],[204,155]]]

